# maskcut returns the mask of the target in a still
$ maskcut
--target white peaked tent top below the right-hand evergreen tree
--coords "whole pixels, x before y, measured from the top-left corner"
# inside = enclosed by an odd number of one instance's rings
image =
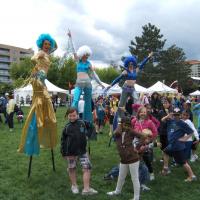
[[[153,92],[163,92],[163,93],[177,93],[177,90],[168,87],[164,83],[158,81],[151,87],[147,88],[148,93],[153,93]]]

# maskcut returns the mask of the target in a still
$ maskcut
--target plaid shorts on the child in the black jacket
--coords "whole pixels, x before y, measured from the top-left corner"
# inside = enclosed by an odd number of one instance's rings
[[[75,169],[77,166],[77,159],[79,158],[82,169],[91,169],[92,165],[87,153],[80,156],[65,156],[68,162],[68,169]]]

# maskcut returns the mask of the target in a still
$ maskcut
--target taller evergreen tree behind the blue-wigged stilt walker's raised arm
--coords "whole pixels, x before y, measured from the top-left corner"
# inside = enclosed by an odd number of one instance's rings
[[[153,51],[154,59],[151,59],[144,67],[142,73],[139,74],[137,82],[143,86],[149,87],[160,79],[160,69],[154,66],[154,61],[159,62],[160,52],[162,52],[166,39],[160,33],[155,25],[148,23],[142,27],[142,36],[136,36],[135,41],[131,41],[129,50],[132,55],[136,55],[138,61],[141,62],[148,54]]]

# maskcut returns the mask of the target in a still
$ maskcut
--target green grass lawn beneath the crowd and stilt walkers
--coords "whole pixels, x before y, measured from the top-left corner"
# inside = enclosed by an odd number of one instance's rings
[[[25,113],[27,109],[24,109]],[[60,141],[61,131],[64,127],[65,108],[57,110],[58,134]],[[72,195],[69,178],[67,176],[66,162],[60,154],[60,144],[54,150],[56,172],[52,170],[50,150],[41,150],[39,156],[33,157],[32,174],[27,178],[29,157],[17,153],[21,136],[22,125],[15,119],[14,132],[9,132],[6,125],[0,124],[0,200],[104,200],[104,199],[130,199],[133,197],[130,176],[127,177],[122,194],[118,197],[108,197],[106,192],[115,189],[115,181],[104,181],[103,176],[119,162],[119,157],[112,143],[108,147],[108,127],[104,134],[98,136],[97,141],[91,143],[91,162],[93,165],[91,186],[99,191],[98,195],[83,197]],[[200,197],[200,181],[184,183],[186,174],[180,167],[172,168],[172,173],[162,177],[159,172],[162,164],[159,162],[160,151],[155,149],[154,171],[156,180],[150,182],[149,192],[141,192],[142,200],[198,200]],[[192,164],[192,168],[200,177],[200,161]],[[82,189],[82,172],[78,168],[78,184]]]

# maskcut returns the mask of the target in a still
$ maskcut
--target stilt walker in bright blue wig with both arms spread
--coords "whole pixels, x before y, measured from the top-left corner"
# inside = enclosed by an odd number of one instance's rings
[[[106,88],[105,92],[107,92],[120,80],[125,81],[122,86],[122,94],[119,101],[118,111],[114,117],[113,130],[117,127],[117,121],[121,121],[128,96],[132,96],[134,98],[134,102],[138,101],[138,95],[135,91],[134,84],[136,83],[138,73],[144,68],[144,65],[152,55],[153,53],[151,52],[140,64],[137,64],[137,59],[134,55],[126,57],[124,59],[124,71],[111,83],[111,86]]]

